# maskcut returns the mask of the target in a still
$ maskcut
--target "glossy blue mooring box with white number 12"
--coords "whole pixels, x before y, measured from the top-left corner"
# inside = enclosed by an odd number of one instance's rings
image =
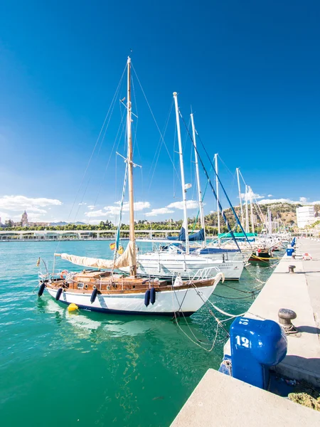
[[[267,389],[270,369],[287,354],[287,338],[273,320],[237,317],[230,327],[232,374]]]

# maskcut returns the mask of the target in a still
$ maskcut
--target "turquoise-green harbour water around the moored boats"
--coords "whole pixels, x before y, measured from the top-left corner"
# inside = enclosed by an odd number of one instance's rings
[[[52,268],[55,251],[103,257],[108,246],[0,243],[1,426],[169,426],[206,370],[218,369],[227,339],[220,328],[208,353],[183,334],[194,339],[184,320],[180,329],[169,318],[69,313],[48,294],[33,292],[39,255]],[[57,267],[72,265],[59,260]],[[233,313],[245,311],[252,297],[239,290],[260,288],[252,275],[265,280],[272,268],[251,265],[249,272],[239,283],[226,283],[235,289],[218,285],[220,296],[211,300]],[[188,323],[210,347],[216,322],[208,306]]]

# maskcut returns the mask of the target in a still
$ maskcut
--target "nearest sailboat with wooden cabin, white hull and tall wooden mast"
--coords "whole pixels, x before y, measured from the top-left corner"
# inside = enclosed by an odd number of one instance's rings
[[[192,315],[210,297],[223,278],[211,266],[198,270],[193,278],[183,281],[180,276],[159,280],[137,275],[137,254],[134,236],[134,186],[132,160],[132,102],[131,59],[127,60],[127,172],[129,186],[129,243],[122,255],[114,260],[86,258],[56,253],[64,260],[96,270],[81,273],[63,271],[58,274],[39,274],[41,296],[46,290],[51,297],[79,308],[107,313],[134,315],[173,315],[183,312]],[[115,273],[128,268],[129,276]]]

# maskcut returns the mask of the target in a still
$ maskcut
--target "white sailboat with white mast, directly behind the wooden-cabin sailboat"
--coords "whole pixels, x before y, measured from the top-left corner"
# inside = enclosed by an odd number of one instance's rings
[[[149,253],[138,253],[137,254],[137,272],[141,275],[152,275],[160,278],[171,278],[173,275],[179,274],[181,278],[190,278],[196,274],[201,268],[217,268],[220,270],[226,280],[239,280],[242,270],[245,266],[244,260],[226,260],[221,254],[216,257],[203,255],[198,253],[198,249],[190,248],[190,242],[188,238],[188,214],[187,214],[187,199],[186,191],[188,185],[186,185],[184,177],[183,167],[183,154],[182,154],[182,143],[181,143],[181,130],[180,130],[180,119],[178,110],[178,95],[174,92],[174,104],[176,109],[176,126],[178,136],[178,148],[179,148],[179,159],[180,159],[180,172],[181,172],[181,186],[182,186],[182,201],[183,201],[183,228],[185,230],[185,242],[183,247],[169,244],[166,250],[154,251]],[[198,184],[198,188],[200,186]],[[199,194],[200,207],[202,205],[201,191]],[[201,221],[204,226],[203,209]],[[203,228],[204,231],[204,228]],[[124,272],[128,272],[127,267],[120,268]]]

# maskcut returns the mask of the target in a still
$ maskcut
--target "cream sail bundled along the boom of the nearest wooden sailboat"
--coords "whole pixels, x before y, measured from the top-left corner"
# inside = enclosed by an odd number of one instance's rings
[[[63,260],[68,260],[70,263],[77,265],[84,265],[85,267],[120,268],[137,265],[136,244],[132,241],[129,241],[124,253],[115,261],[105,260],[103,258],[87,258],[86,256],[69,255],[68,253],[61,253],[60,255]]]

